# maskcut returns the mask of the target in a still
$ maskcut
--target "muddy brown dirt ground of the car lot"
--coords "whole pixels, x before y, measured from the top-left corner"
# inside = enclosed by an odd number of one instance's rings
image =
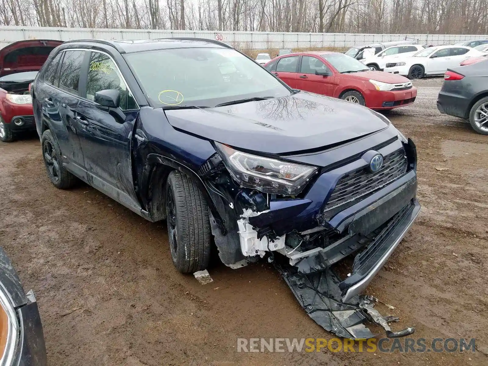
[[[388,114],[418,148],[423,210],[367,293],[415,337],[477,339],[488,354],[488,136],[441,115],[442,79]],[[200,285],[151,224],[86,185],[48,180],[37,136],[0,142],[0,245],[36,294],[50,366],[487,365],[481,352],[237,353],[237,338],[325,337],[277,272],[223,264]]]

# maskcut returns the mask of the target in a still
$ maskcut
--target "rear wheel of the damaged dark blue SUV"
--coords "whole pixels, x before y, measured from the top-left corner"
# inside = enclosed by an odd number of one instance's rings
[[[50,130],[41,136],[42,159],[47,175],[56,188],[68,189],[76,183],[76,177],[68,172],[63,165],[61,150]]]

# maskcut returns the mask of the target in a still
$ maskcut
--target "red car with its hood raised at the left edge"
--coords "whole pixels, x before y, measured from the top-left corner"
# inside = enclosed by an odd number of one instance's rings
[[[0,141],[12,142],[20,133],[36,130],[29,83],[61,43],[18,41],[0,50]]]

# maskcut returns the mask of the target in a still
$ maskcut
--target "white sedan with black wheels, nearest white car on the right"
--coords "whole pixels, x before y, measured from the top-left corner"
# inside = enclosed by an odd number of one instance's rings
[[[408,79],[420,79],[426,75],[443,75],[447,68],[458,66],[466,59],[481,55],[483,52],[470,47],[429,47],[413,56],[399,57],[386,63],[385,71],[407,76]]]

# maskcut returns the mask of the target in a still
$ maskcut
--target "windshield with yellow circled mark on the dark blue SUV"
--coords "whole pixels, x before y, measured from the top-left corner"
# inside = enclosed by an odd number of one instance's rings
[[[163,49],[129,53],[125,59],[154,107],[213,107],[292,94],[263,67],[233,49]]]

